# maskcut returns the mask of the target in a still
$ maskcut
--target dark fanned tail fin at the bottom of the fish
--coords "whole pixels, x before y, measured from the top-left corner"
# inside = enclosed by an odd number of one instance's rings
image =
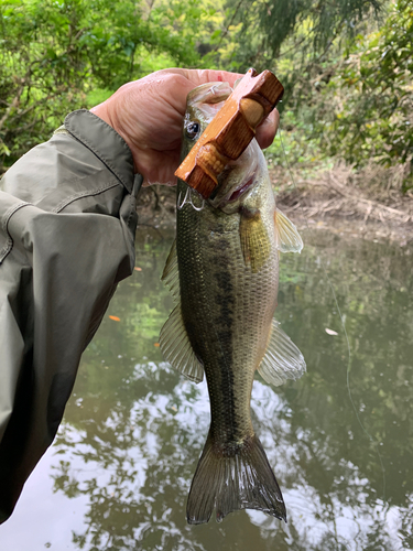
[[[189,490],[188,523],[208,522],[214,507],[218,522],[239,509],[258,509],[286,522],[280,487],[257,436],[224,454],[208,435]]]

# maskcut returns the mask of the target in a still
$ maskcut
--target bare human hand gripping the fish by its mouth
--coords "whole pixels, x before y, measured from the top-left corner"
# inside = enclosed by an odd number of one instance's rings
[[[176,183],[186,96],[197,86],[228,82],[243,75],[226,71],[162,69],[123,85],[104,104],[90,109],[110,125],[132,151],[134,170],[144,184]],[[262,149],[274,139],[280,115],[276,109],[257,128]]]

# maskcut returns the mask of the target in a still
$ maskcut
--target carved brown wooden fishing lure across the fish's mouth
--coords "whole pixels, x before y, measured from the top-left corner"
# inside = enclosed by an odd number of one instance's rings
[[[276,106],[284,88],[270,71],[260,75],[250,68],[222,108],[176,170],[204,198],[218,185],[217,176],[237,160],[256,136],[256,128]]]

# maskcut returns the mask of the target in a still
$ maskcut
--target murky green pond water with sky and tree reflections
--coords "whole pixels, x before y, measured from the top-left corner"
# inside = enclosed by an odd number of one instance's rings
[[[257,376],[252,392],[289,523],[240,511],[186,525],[208,397],[162,360],[172,236],[141,231],[141,270],[84,355],[58,437],[0,527],[2,551],[413,549],[413,249],[304,238],[301,256],[282,257],[276,316],[308,372],[278,389]]]

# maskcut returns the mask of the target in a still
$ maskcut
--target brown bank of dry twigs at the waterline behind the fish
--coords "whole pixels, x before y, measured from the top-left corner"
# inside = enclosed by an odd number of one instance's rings
[[[330,230],[335,235],[391,241],[401,247],[413,242],[413,198],[394,192],[388,201],[354,185],[320,179],[301,181],[297,185],[275,184],[276,206],[298,230]],[[142,188],[138,197],[138,226],[156,230],[175,226],[175,188],[153,185]]]

